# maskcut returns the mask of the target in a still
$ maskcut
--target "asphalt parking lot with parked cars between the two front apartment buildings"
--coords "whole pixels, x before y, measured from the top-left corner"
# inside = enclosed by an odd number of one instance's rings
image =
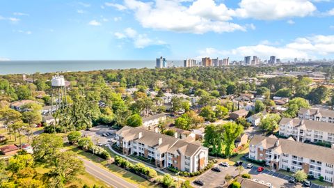
[[[265,169],[261,173],[257,172],[257,166],[253,166],[252,169],[247,169],[246,164],[243,164],[244,171],[242,173],[249,173],[251,175],[251,179],[256,179],[257,181],[264,181],[265,183],[270,182],[273,187],[276,188],[292,188],[292,187],[303,187],[301,183],[292,184],[289,183],[288,180],[290,176],[284,175],[281,173],[268,171]],[[228,166],[222,167],[219,166],[221,172],[215,172],[212,170],[208,170],[207,172],[200,175],[196,180],[201,180],[204,182],[204,186],[202,187],[219,187],[222,186],[225,182],[225,175],[229,174],[232,176],[238,175],[238,171],[236,166]],[[194,187],[201,187],[193,183]],[[311,188],[324,188],[319,185],[312,184]]]

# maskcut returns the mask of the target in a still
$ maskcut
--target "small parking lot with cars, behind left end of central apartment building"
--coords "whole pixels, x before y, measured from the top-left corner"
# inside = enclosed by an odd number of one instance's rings
[[[111,127],[106,127],[106,125],[99,125],[96,127],[91,127],[89,130],[81,131],[84,136],[90,136],[92,141],[98,145],[105,145],[106,143],[115,141],[116,132],[117,130]],[[105,136],[102,136],[102,134]]]

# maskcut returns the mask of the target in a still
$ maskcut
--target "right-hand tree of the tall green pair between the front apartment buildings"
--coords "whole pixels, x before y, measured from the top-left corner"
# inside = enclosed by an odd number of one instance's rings
[[[223,138],[225,143],[225,155],[230,157],[232,150],[234,148],[234,141],[240,136],[244,131],[244,128],[237,123],[226,123],[223,125]]]

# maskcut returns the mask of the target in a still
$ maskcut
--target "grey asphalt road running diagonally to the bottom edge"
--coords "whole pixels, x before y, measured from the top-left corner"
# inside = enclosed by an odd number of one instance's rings
[[[86,171],[91,175],[95,176],[96,178],[106,182],[106,184],[111,185],[112,187],[116,188],[137,188],[138,186],[129,183],[122,178],[114,175],[110,171],[103,169],[100,166],[97,166],[93,162],[90,162],[86,159],[80,158],[86,167]]]

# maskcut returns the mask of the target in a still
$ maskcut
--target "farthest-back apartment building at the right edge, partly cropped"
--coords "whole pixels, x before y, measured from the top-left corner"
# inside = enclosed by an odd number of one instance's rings
[[[301,108],[298,117],[304,120],[317,120],[334,123],[334,111],[328,109],[305,109]]]

